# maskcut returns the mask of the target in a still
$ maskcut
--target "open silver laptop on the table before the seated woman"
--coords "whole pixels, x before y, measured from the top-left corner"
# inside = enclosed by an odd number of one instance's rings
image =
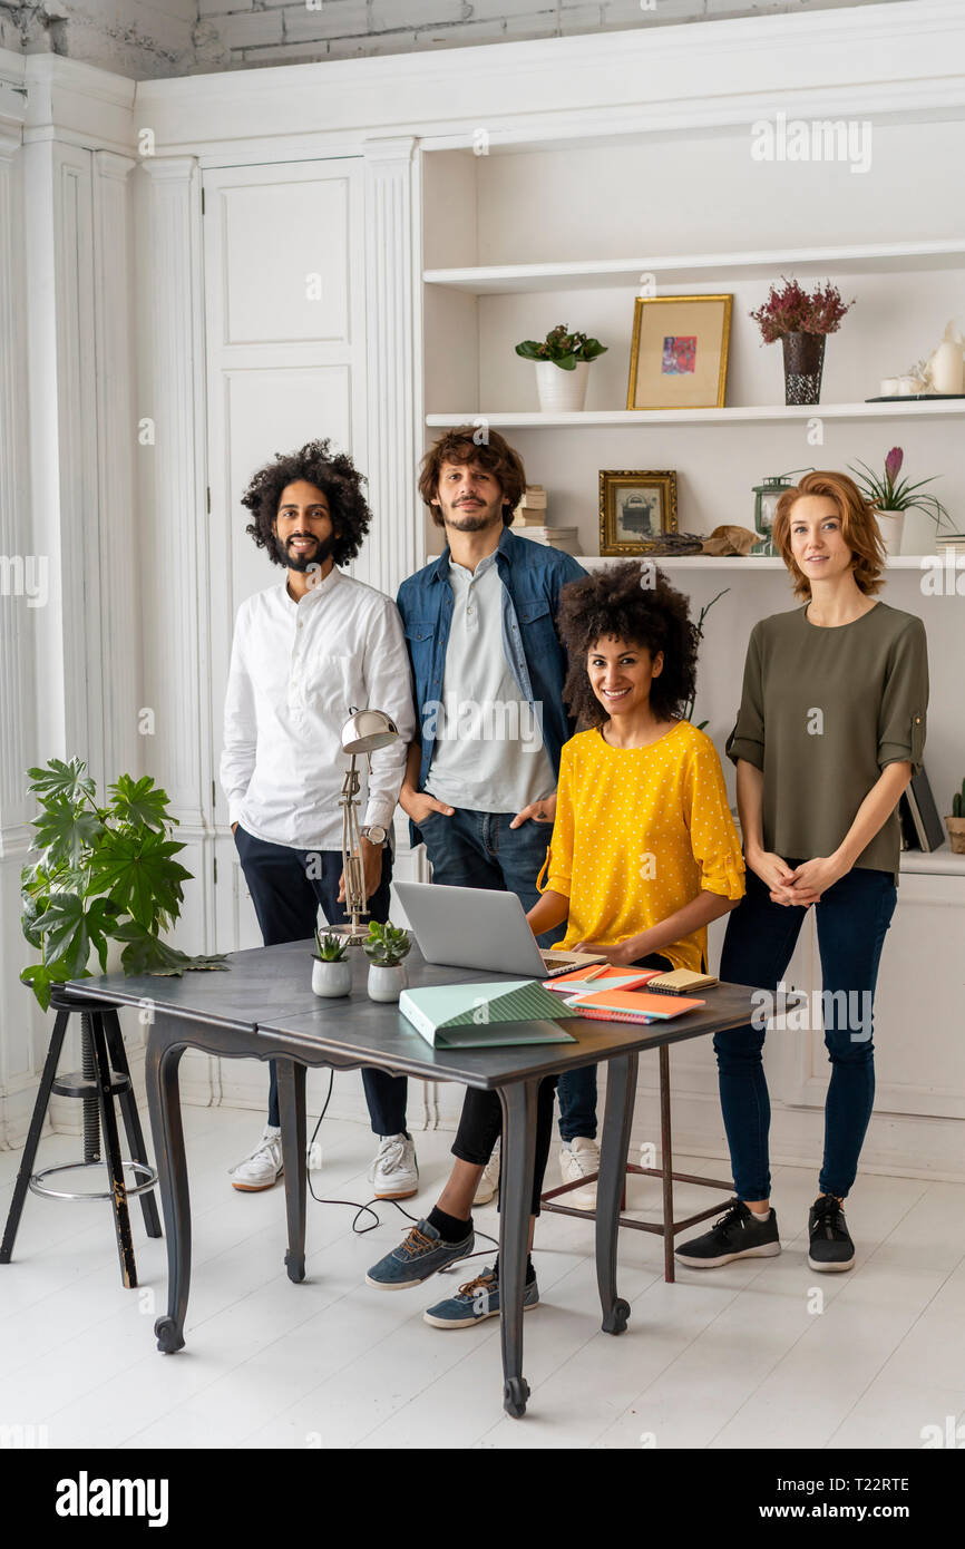
[[[429,963],[555,979],[606,962],[598,953],[544,953],[514,892],[397,881],[418,950]]]

